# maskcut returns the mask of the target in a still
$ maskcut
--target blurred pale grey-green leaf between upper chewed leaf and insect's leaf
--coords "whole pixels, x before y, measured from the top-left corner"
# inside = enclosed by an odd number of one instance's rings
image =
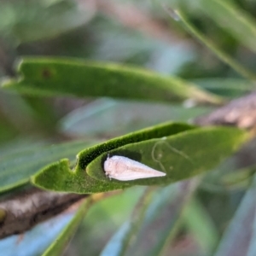
[[[166,120],[179,122],[194,119],[211,110],[206,107],[184,108],[162,102],[99,98],[68,113],[61,119],[59,127],[69,137],[117,137]]]

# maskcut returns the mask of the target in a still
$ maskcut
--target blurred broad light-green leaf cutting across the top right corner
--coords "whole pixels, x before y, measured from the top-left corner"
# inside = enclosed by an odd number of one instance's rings
[[[234,1],[198,0],[201,10],[241,44],[256,52],[256,20]]]

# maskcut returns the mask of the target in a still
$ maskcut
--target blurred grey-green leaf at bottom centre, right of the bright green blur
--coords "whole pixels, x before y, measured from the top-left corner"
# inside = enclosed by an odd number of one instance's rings
[[[137,239],[131,243],[125,255],[160,255],[166,241],[177,235],[181,212],[196,185],[196,180],[189,180],[159,189],[140,224]]]

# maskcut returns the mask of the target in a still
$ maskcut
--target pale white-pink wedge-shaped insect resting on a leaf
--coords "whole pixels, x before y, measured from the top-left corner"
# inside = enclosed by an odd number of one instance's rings
[[[104,162],[104,170],[110,179],[114,178],[121,181],[166,176],[165,172],[156,171],[140,162],[120,155],[108,156]]]

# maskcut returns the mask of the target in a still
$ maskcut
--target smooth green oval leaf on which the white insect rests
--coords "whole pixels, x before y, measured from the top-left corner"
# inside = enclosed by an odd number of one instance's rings
[[[244,139],[244,131],[234,128],[211,127],[184,131],[177,135],[130,143],[109,150],[91,161],[86,172],[90,177],[106,183],[124,184],[125,182],[114,179],[109,181],[102,170],[102,163],[107,160],[108,154],[122,155],[166,172],[166,177],[137,179],[126,182],[127,184],[173,183],[210,170],[232,154]]]

